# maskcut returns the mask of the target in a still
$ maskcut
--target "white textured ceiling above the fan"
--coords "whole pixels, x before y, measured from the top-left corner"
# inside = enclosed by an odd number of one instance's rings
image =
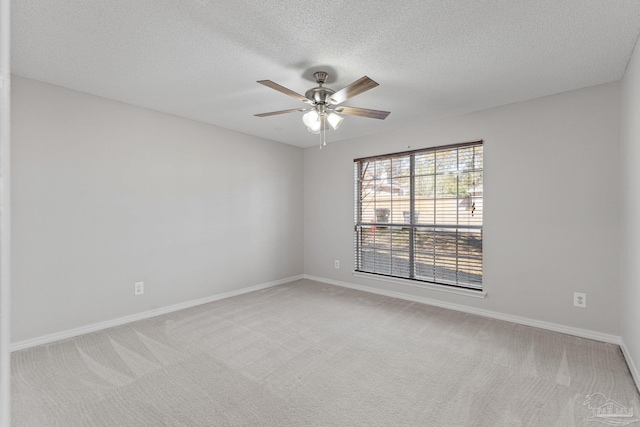
[[[638,0],[20,0],[17,75],[300,147],[318,143],[298,93],[330,73],[339,141],[622,78],[640,33]]]

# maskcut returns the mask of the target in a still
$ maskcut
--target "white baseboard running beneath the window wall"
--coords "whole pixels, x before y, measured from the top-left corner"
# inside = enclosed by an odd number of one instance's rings
[[[595,341],[602,341],[610,344],[621,345],[620,337],[617,335],[605,334],[602,332],[591,331],[588,329],[574,328],[573,326],[559,325],[557,323],[545,322],[543,320],[531,319],[528,317],[514,316],[512,314],[499,313],[497,311],[484,310],[481,308],[469,307],[461,304],[439,301],[431,298],[419,297],[415,295],[405,294],[403,292],[386,291],[383,289],[372,288],[369,286],[355,285],[352,283],[342,282],[338,280],[325,279],[311,275],[304,275],[305,279],[315,280],[316,282],[327,283],[329,285],[341,286],[344,288],[356,289],[358,291],[369,292],[378,295],[384,295],[392,298],[399,298],[407,301],[418,302],[421,304],[433,305],[436,307],[447,308],[450,310],[462,311],[469,314],[477,314],[478,316],[489,317],[492,319],[505,320],[507,322],[518,323],[520,325],[533,326],[535,328],[546,329],[549,331],[560,332],[563,334],[574,335],[581,338],[587,338]]]

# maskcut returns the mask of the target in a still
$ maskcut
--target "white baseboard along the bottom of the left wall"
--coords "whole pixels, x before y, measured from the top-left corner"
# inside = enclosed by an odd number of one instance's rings
[[[172,313],[178,310],[184,310],[185,308],[195,307],[197,305],[207,304],[214,301],[219,301],[225,298],[231,298],[238,295],[246,294],[249,292],[259,291],[261,289],[270,288],[273,286],[283,285],[285,283],[295,282],[296,280],[303,279],[302,274],[298,276],[286,277],[284,279],[276,280],[273,282],[262,283],[260,285],[249,286],[247,288],[238,289],[235,291],[225,292],[222,294],[213,295],[210,297],[200,298],[197,300],[186,301],[179,304],[170,305],[168,307],[156,308],[142,313],[132,314],[130,316],[119,317],[113,320],[107,320],[106,322],[94,323],[92,325],[81,326],[79,328],[69,329],[62,332],[56,332],[41,337],[31,338],[24,341],[18,341],[11,345],[11,351],[24,350],[26,348],[35,347],[42,344],[49,344],[55,341],[76,337],[78,335],[88,334],[90,332],[101,331],[103,329],[112,328],[114,326],[124,325],[126,323],[137,322],[139,320],[149,319],[151,317],[160,316],[162,314]]]

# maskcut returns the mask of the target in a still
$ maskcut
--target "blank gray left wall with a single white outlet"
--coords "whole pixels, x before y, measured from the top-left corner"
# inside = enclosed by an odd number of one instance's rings
[[[302,274],[302,149],[12,85],[12,341]]]

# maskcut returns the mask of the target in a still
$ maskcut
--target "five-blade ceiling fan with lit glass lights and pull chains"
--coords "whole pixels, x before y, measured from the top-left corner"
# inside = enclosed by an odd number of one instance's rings
[[[275,116],[278,114],[305,112],[305,114],[302,116],[302,121],[307,126],[307,130],[314,134],[322,133],[324,136],[324,131],[327,130],[327,125],[335,130],[344,120],[337,113],[380,120],[384,120],[390,114],[389,111],[370,110],[368,108],[348,107],[346,105],[340,105],[344,101],[378,86],[378,83],[371,80],[369,77],[361,77],[360,79],[336,92],[333,89],[323,86],[328,76],[329,74],[325,71],[316,71],[315,73],[313,73],[313,77],[316,79],[316,83],[318,83],[318,86],[306,91],[304,96],[292,91],[291,89],[287,89],[284,86],[280,86],[279,84],[274,83],[271,80],[258,80],[258,83],[260,83],[261,85],[270,87],[271,89],[275,89],[278,92],[284,93],[285,95],[289,95],[290,97],[295,98],[298,101],[302,101],[305,104],[310,105],[310,107],[271,111],[269,113],[255,114],[255,116],[267,117]],[[324,143],[323,145],[325,144],[326,143]]]

